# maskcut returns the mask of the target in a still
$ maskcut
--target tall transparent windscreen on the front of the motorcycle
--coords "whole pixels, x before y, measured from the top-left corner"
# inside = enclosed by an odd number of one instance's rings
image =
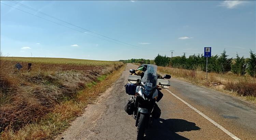
[[[144,73],[143,78],[141,79],[142,85],[145,87],[146,94],[152,92],[157,86],[157,66],[156,65],[147,65],[147,70]]]

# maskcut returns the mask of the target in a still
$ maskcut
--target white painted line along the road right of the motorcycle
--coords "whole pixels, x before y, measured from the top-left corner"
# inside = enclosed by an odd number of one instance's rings
[[[225,129],[224,127],[222,127],[221,125],[217,124],[215,121],[213,121],[212,119],[210,119],[207,115],[203,114],[202,112],[200,112],[199,110],[197,110],[196,108],[194,108],[193,106],[189,105],[187,102],[185,102],[183,99],[181,99],[180,97],[176,96],[175,94],[173,94],[171,91],[169,91],[168,89],[166,89],[169,93],[171,93],[174,97],[178,98],[179,100],[181,100],[183,103],[185,103],[187,106],[189,106],[190,108],[192,108],[193,110],[195,110],[197,113],[199,113],[201,116],[203,116],[205,119],[207,119],[208,121],[210,121],[211,123],[213,123],[215,126],[217,126],[219,129],[221,129],[222,131],[224,131],[226,134],[228,134],[230,137],[232,137],[235,140],[240,140],[238,137],[236,137],[235,135],[233,135],[232,133],[230,133],[227,129]]]

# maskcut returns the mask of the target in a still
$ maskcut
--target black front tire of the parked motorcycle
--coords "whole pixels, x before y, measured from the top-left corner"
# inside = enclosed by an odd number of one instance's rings
[[[147,114],[140,114],[138,131],[137,131],[137,140],[143,140],[145,129],[147,123]]]

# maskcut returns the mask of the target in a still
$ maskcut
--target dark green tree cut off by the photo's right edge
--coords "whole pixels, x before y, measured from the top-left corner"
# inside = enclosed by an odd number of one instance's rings
[[[256,76],[256,53],[253,53],[252,50],[250,50],[250,58],[247,61],[246,72],[252,77]]]

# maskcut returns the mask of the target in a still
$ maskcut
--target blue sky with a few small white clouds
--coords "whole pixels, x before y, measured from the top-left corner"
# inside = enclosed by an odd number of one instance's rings
[[[171,56],[170,50],[174,50],[173,56],[183,52],[189,56],[203,53],[206,46],[212,47],[212,55],[225,48],[230,57],[236,52],[249,57],[250,49],[256,51],[255,1],[17,2],[139,48],[1,1],[0,47],[4,55],[120,60],[154,59],[158,53]]]

